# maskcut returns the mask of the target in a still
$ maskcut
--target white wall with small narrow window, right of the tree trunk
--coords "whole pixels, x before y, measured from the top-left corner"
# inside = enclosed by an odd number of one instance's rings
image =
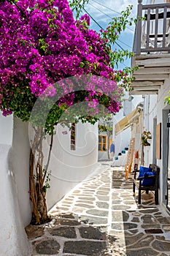
[[[49,141],[49,140],[47,140]],[[76,150],[70,149],[70,131],[58,125],[53,141],[52,170],[47,206],[51,208],[66,192],[92,173],[98,157],[98,125],[81,122],[76,126]]]

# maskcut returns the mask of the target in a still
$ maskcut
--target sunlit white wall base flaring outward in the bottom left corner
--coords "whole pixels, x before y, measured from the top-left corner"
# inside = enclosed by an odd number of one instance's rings
[[[8,165],[10,146],[0,144],[0,255],[28,256],[30,245],[18,204],[15,175]]]

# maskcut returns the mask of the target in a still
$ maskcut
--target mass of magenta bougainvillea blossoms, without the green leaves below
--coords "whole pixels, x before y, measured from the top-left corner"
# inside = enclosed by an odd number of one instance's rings
[[[107,78],[99,91],[93,90],[93,83],[88,84],[88,90],[93,91],[86,99],[90,107],[98,104],[95,97],[100,93],[101,97],[113,96],[108,107],[110,112],[120,109],[122,90],[116,83],[108,83],[115,76],[109,67],[104,40],[89,25],[88,15],[74,20],[66,0],[0,2],[0,109],[4,116],[12,111],[10,106],[4,108],[2,102],[10,91],[15,94],[20,89],[20,83],[26,82],[35,97],[43,91],[46,97],[53,97],[62,87],[58,89],[54,83],[84,74]],[[63,97],[61,104],[72,105],[73,95],[70,99]]]

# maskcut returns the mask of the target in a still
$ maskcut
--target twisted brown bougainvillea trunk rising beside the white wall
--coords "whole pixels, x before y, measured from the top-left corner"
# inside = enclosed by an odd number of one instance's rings
[[[50,162],[50,153],[53,144],[53,135],[48,153],[47,165],[43,169],[44,154],[42,151],[42,142],[45,138],[43,129],[34,128],[35,136],[30,151],[30,198],[32,202],[32,219],[31,223],[39,225],[49,221],[47,215],[45,177],[47,167]]]

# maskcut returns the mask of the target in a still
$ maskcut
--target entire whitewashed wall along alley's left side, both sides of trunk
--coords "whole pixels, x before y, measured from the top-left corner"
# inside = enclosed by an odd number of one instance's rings
[[[9,146],[0,145],[0,194],[3,195],[0,198],[3,207],[0,212],[0,255],[28,256],[30,247],[24,230],[31,221],[28,123],[14,118],[12,128],[12,118],[1,120],[0,143]],[[77,124],[76,150],[71,151],[69,129],[58,126],[49,168],[52,176],[47,193],[48,208],[98,167],[97,137],[97,124]],[[48,142],[46,140],[46,146]]]

